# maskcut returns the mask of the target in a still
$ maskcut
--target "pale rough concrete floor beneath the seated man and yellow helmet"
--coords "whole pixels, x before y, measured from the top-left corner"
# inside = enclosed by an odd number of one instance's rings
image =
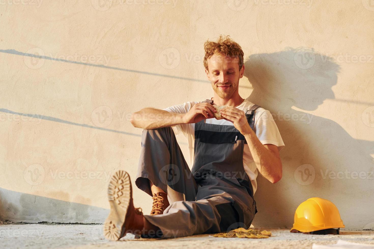
[[[261,228],[256,228],[260,229]],[[108,242],[102,225],[83,224],[0,224],[1,248],[312,248],[313,243],[333,244],[338,239],[374,246],[374,231],[341,230],[339,235],[289,233],[288,229],[267,229],[269,239],[216,238],[209,234],[177,239],[133,239]]]

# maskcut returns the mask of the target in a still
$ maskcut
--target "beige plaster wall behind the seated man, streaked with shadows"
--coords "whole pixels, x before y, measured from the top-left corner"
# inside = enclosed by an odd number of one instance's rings
[[[247,60],[240,95],[274,114],[286,144],[282,180],[258,177],[254,225],[291,227],[319,196],[347,228],[374,227],[369,0],[0,3],[2,220],[103,222],[110,175],[137,172],[129,113],[212,97],[203,43],[224,34]]]

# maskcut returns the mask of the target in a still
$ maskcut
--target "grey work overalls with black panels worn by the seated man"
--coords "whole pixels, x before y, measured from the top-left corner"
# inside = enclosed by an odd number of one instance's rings
[[[213,104],[209,99],[204,102]],[[252,130],[254,110],[259,107],[255,105],[246,113]],[[148,150],[153,153],[145,149],[145,154],[142,153],[144,158],[141,157],[135,181],[137,186],[151,195],[144,181],[149,179],[155,186],[167,191],[169,199],[175,193],[184,195],[183,199],[171,203],[164,214],[144,216],[159,227],[166,237],[227,232],[237,227],[249,228],[257,208],[251,181],[243,167],[243,150],[247,142],[233,125],[207,124],[205,119],[195,123],[194,162],[191,171],[183,155],[180,155],[182,153],[171,127],[144,130],[142,147],[143,143],[148,143]],[[164,143],[169,151],[162,150]],[[155,147],[161,149],[157,151]],[[154,161],[160,161],[155,153],[161,153],[163,158],[166,157],[165,161],[155,163]],[[157,177],[160,176],[160,168],[165,169],[166,161],[169,164],[168,169],[163,170],[165,177]]]

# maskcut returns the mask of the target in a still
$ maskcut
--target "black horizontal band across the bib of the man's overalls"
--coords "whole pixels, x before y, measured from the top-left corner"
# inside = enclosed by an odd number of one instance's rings
[[[195,139],[199,139],[201,143],[237,143],[237,140],[244,140],[244,136],[240,132],[217,132],[217,131],[195,131]]]

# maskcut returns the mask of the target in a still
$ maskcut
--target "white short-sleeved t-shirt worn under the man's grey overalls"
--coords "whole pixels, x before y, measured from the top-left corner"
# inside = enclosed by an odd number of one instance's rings
[[[163,110],[172,112],[172,113],[187,113],[190,111],[193,105],[197,103],[202,103],[203,101],[199,102],[185,102],[181,105],[170,106]],[[244,100],[242,104],[237,106],[237,109],[243,110],[244,112],[251,109],[254,104],[249,102],[248,100]],[[225,119],[217,120],[215,118],[208,118],[205,119],[207,124],[217,124],[217,125],[234,125],[232,122],[227,121]],[[183,134],[187,138],[188,143],[188,151],[190,154],[190,167],[193,165],[193,157],[194,157],[194,140],[195,140],[195,124],[180,124],[172,126],[175,136],[179,134]],[[255,123],[254,123],[254,132],[258,137],[258,140],[262,144],[275,144],[278,146],[278,150],[280,151],[285,147],[283,143],[281,134],[279,133],[278,127],[275,124],[273,116],[268,110],[264,108],[257,108],[255,110]],[[257,166],[253,161],[251,152],[249,150],[248,144],[244,144],[244,151],[243,151],[243,166],[245,172],[248,174],[249,179],[251,180],[253,193],[257,190]]]

